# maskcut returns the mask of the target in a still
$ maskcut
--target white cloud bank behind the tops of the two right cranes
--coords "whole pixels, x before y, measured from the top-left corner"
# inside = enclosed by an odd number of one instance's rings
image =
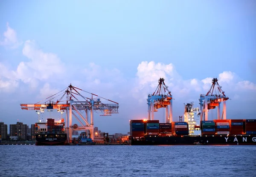
[[[203,80],[192,78],[183,80],[175,70],[175,66],[163,63],[142,62],[137,68],[137,80],[132,91],[134,98],[139,102],[145,102],[147,94],[152,94],[158,85],[160,77],[164,77],[165,83],[169,86],[175,98],[199,97],[200,94],[206,94],[212,85],[212,77]],[[231,71],[224,71],[218,75],[218,83],[224,86],[225,93],[240,97],[243,91],[255,91],[256,85],[250,81],[239,80],[239,77]],[[239,91],[240,89],[240,91]],[[141,96],[143,95],[143,97]]]

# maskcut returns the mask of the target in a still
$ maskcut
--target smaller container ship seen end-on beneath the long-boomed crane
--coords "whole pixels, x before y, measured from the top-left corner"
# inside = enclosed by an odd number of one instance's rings
[[[35,145],[65,145],[67,131],[64,126],[64,119],[58,122],[54,119],[47,119],[47,123],[35,123]]]

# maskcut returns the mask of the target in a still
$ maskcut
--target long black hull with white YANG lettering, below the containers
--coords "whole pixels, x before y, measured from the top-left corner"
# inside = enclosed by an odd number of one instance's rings
[[[256,136],[144,137],[131,139],[131,145],[256,145]]]

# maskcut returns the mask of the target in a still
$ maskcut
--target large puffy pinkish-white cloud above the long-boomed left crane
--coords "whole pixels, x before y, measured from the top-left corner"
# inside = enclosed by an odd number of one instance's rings
[[[28,62],[20,62],[16,70],[9,70],[0,63],[0,76],[6,79],[7,86],[17,86],[18,81],[29,84],[30,88],[37,88],[39,81],[47,81],[49,78],[61,78],[65,73],[64,64],[56,54],[46,53],[37,49],[34,40],[24,43],[22,53],[29,59]],[[9,87],[1,90],[9,90]]]

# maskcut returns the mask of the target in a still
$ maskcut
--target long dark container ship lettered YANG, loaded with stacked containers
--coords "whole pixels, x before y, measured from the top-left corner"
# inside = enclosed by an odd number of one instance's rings
[[[256,145],[256,120],[159,123],[130,120],[131,145]],[[197,127],[197,132],[193,128]]]

